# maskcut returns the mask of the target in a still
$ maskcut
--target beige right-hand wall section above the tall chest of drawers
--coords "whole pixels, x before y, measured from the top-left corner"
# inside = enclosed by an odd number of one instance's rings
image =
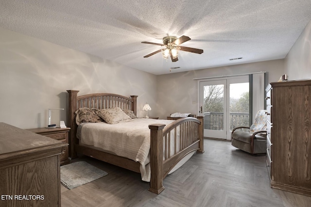
[[[285,58],[289,80],[311,79],[311,21]]]

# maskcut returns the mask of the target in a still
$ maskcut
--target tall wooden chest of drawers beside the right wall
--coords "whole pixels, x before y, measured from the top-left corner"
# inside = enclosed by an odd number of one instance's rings
[[[311,80],[266,88],[271,187],[311,196]]]

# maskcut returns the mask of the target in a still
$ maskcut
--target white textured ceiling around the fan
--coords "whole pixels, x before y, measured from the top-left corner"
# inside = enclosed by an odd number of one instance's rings
[[[310,20],[311,0],[0,1],[0,27],[156,75],[282,59]],[[204,53],[143,58],[167,35]]]

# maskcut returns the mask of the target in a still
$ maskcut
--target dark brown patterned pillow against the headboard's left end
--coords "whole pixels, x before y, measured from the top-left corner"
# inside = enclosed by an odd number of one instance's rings
[[[81,123],[85,122],[103,122],[104,120],[97,115],[96,111],[98,111],[98,109],[90,109],[86,107],[78,109],[77,111],[75,111],[76,124],[80,125]]]

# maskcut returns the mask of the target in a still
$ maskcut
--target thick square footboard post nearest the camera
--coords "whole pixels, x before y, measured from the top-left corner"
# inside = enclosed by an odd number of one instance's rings
[[[150,188],[160,194],[163,190],[163,124],[149,125],[150,128]]]

